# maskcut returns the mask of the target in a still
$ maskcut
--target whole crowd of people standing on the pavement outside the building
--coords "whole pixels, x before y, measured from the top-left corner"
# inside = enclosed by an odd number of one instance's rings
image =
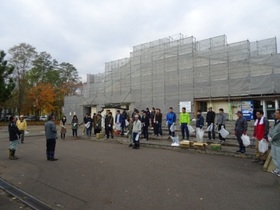
[[[276,166],[276,169],[272,173],[280,177],[280,109],[275,111],[275,123],[272,127],[269,127],[269,121],[264,116],[262,110],[257,110],[256,120],[254,122],[254,133],[253,138],[256,140],[256,157],[253,160],[254,163],[259,163],[263,165],[267,159],[269,150],[265,152],[259,151],[259,144],[261,141],[264,141],[268,144],[271,142],[271,153],[272,160]],[[241,111],[236,113],[237,120],[235,122],[234,132],[239,144],[239,149],[236,152],[245,153],[246,147],[243,143],[243,136],[247,134],[247,120],[243,117]],[[9,136],[10,136],[10,145],[9,145],[9,159],[16,160],[18,159],[15,156],[17,145],[19,142],[24,143],[24,133],[27,129],[27,123],[24,117],[21,115],[19,119],[16,119],[15,116],[10,117],[10,123],[8,125]],[[168,113],[166,114],[166,125],[168,127],[169,137],[175,136],[175,125],[177,121],[176,113],[173,111],[173,108],[170,107]],[[78,128],[84,126],[84,133],[90,137],[92,135],[97,135],[102,131],[102,121],[104,121],[105,135],[106,138],[114,138],[114,133],[118,132],[121,136],[127,134],[127,137],[130,140],[129,146],[133,149],[140,148],[140,139],[143,136],[143,139],[149,139],[149,127],[153,129],[153,135],[161,137],[162,136],[162,122],[163,115],[159,108],[152,108],[151,111],[149,108],[142,110],[141,112],[138,109],[134,109],[131,115],[129,115],[125,110],[121,113],[120,110],[117,110],[116,115],[113,117],[111,111],[107,111],[105,116],[101,112],[97,114],[94,113],[91,117],[90,114],[86,114],[83,121],[79,123],[79,120],[76,115],[72,117],[71,128],[73,139],[77,139]],[[201,110],[198,110],[195,117],[195,126],[196,129],[202,129],[204,127],[204,121],[206,122],[207,131],[208,131],[208,141],[215,140],[215,129],[218,131],[226,128],[226,115],[222,108],[219,109],[219,113],[216,113],[212,110],[212,107],[208,108],[206,113],[206,119],[204,119]],[[45,135],[46,135],[46,154],[47,160],[56,161],[55,158],[55,145],[56,139],[58,138],[58,130],[55,125],[55,117],[50,115],[47,122],[45,123]],[[66,134],[66,122],[67,119],[65,116],[62,117],[60,121],[60,134],[61,139],[65,139]],[[179,123],[181,128],[182,140],[189,140],[189,126],[190,126],[190,115],[186,112],[186,108],[183,107],[179,116]],[[115,129],[114,129],[115,128]],[[225,137],[219,133],[219,139],[221,144],[225,144]]]

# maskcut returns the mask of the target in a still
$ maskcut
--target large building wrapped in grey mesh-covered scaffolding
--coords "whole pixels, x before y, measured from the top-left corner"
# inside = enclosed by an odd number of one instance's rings
[[[225,35],[201,41],[178,35],[134,46],[129,58],[88,75],[81,93],[66,97],[64,112],[79,118],[114,108],[165,113],[172,106],[179,112],[180,102],[189,102],[191,113],[212,106],[232,118],[250,102],[271,118],[279,107],[279,81],[276,38],[227,43]]]

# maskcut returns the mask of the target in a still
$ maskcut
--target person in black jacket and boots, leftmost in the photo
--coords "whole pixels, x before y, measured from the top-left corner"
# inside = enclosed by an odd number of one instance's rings
[[[9,130],[9,138],[10,138],[10,145],[9,145],[9,159],[10,160],[17,160],[18,157],[15,156],[16,150],[17,150],[17,145],[19,143],[19,138],[21,135],[21,131],[18,129],[16,125],[16,117],[15,116],[10,116],[9,118],[9,125],[8,125],[8,130]]]

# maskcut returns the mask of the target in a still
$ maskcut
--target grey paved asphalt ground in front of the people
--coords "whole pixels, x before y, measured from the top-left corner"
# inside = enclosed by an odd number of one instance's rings
[[[10,161],[5,136],[0,177],[53,209],[280,208],[280,178],[250,159],[67,137],[50,162],[44,136],[35,135]]]

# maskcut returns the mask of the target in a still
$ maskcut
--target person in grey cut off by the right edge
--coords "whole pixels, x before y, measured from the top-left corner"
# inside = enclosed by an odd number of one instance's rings
[[[270,128],[268,140],[271,142],[271,157],[276,167],[271,173],[280,177],[280,109],[275,111],[275,124]]]

